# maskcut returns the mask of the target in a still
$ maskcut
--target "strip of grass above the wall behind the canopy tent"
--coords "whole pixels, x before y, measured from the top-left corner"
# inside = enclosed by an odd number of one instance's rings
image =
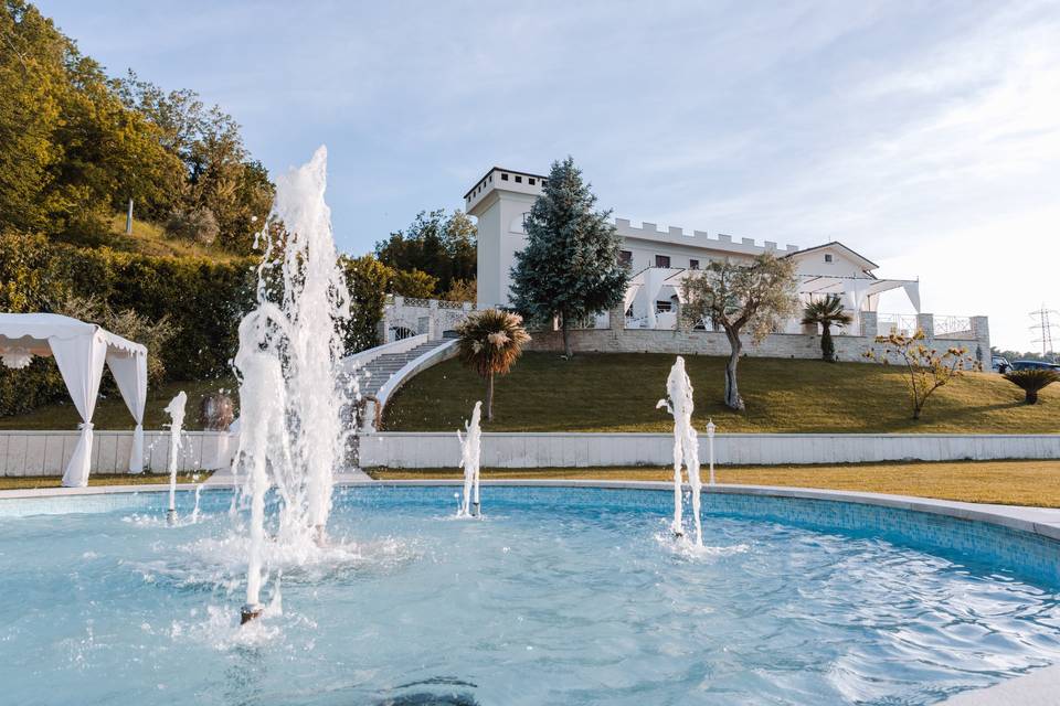
[[[144,428],[162,429],[168,425],[169,415],[162,410],[177,393],[184,391],[188,393],[188,416],[184,418],[184,428],[190,430],[201,429],[199,405],[203,397],[220,389],[224,389],[233,399],[236,398],[237,391],[234,378],[149,386],[147,388],[147,406],[144,409]],[[96,413],[92,420],[97,431],[131,429],[135,426],[132,417],[118,393],[114,393],[113,396],[102,398],[96,403]],[[76,429],[80,421],[81,417],[77,415],[74,404],[65,402],[39,407],[26,415],[0,416],[0,429]]]

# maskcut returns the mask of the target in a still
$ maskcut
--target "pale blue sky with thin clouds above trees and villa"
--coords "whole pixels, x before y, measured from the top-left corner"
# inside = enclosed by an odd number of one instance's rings
[[[840,240],[1003,349],[1060,309],[1056,0],[39,7],[113,75],[221,105],[273,173],[327,145],[349,253],[571,154],[616,216]]]

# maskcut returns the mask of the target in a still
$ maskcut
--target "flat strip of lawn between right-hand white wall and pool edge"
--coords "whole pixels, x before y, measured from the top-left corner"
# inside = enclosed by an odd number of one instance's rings
[[[707,469],[701,472],[707,481]],[[463,478],[458,469],[370,469],[380,480]],[[484,479],[672,481],[671,468],[483,469]],[[973,503],[1060,507],[1060,461],[964,461],[718,468],[719,483],[827,488]]]

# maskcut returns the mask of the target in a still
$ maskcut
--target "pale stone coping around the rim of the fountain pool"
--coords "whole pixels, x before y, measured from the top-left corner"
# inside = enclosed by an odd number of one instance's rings
[[[203,490],[227,490],[233,484],[231,475],[214,475],[206,483],[178,483],[179,491],[194,491],[199,485]],[[423,488],[462,486],[462,479],[413,479],[413,480],[372,480],[364,475],[341,474],[337,478],[337,488]],[[607,490],[649,490],[672,492],[674,484],[666,481],[607,481],[574,479],[497,479],[483,480],[484,486],[515,488],[602,488]],[[80,495],[106,495],[114,493],[157,493],[167,492],[168,483],[144,483],[139,485],[89,485],[87,488],[33,488],[0,491],[0,502],[31,498],[63,498]],[[827,490],[815,488],[793,488],[781,485],[703,485],[704,493],[728,493],[738,495],[763,495],[773,498],[797,498],[828,502],[879,505],[895,510],[923,512],[944,515],[958,520],[983,522],[1011,530],[1027,532],[1054,542],[1060,542],[1060,509],[1025,505],[996,505],[968,503],[912,495],[893,495],[862,491]],[[1027,674],[1005,680],[993,686],[952,696],[942,706],[1006,706],[1019,703],[1021,706],[1054,706],[1056,694],[1060,691],[1060,664],[1036,668]],[[1014,700],[1018,699],[1018,700]]]

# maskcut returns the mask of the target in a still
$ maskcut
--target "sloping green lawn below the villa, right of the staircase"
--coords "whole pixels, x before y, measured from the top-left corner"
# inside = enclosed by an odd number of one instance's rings
[[[489,431],[669,431],[672,419],[656,409],[672,355],[528,352],[499,377]],[[696,389],[695,424],[713,418],[720,431],[748,432],[984,432],[1060,431],[1060,385],[1042,391],[1035,406],[1000,375],[969,373],[937,391],[920,421],[910,419],[901,372],[869,363],[825,363],[748,357],[740,362],[743,414],[725,408],[724,359],[688,355]],[[386,406],[391,431],[463,427],[485,384],[457,360],[409,382]]]

